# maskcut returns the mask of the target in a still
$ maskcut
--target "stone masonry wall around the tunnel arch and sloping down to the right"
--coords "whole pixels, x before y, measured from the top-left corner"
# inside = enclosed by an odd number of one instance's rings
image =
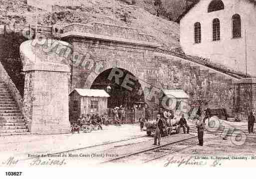
[[[224,75],[200,70],[199,66],[181,62],[178,57],[155,56],[153,48],[75,38],[69,43],[75,51],[89,53],[87,61],[102,62],[104,67],[100,72],[112,67],[123,68],[159,89],[185,90],[191,97],[191,106],[198,106],[203,101],[203,108],[225,108],[230,116],[234,115],[236,85]],[[94,69],[87,67],[73,67],[72,89],[90,88],[93,80],[90,85],[85,85],[85,81]]]

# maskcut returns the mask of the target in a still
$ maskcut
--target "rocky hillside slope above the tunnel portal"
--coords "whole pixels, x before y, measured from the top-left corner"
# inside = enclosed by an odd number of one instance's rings
[[[133,0],[52,1],[55,3],[51,9],[36,10],[24,0],[2,0],[0,24],[8,23],[13,18],[22,23],[34,24],[36,16],[42,25],[97,21],[137,28],[153,35],[166,49],[179,47],[179,25],[163,16],[157,17],[154,0],[135,0],[135,4]],[[38,6],[43,8],[42,3]]]

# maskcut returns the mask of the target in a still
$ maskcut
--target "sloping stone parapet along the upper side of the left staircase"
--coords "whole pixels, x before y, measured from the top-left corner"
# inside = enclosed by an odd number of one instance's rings
[[[10,79],[8,73],[3,68],[1,62],[0,62],[0,80],[2,82],[4,82],[4,84],[6,85],[8,91],[11,93],[11,96],[16,101],[16,103],[18,105],[18,108],[20,109],[20,111],[23,115],[23,111],[22,111],[22,109],[23,109],[23,99],[20,96],[20,93],[17,90],[16,86],[14,85],[12,80]]]

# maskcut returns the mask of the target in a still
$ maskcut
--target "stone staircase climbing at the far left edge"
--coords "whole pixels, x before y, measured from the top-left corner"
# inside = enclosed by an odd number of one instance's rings
[[[16,102],[0,82],[0,136],[29,134]]]

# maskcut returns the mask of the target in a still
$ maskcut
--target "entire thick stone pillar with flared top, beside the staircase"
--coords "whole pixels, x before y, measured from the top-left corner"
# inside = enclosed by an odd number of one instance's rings
[[[48,52],[40,45],[35,45],[35,49],[31,44],[26,41],[20,45],[25,72],[23,111],[29,131],[36,134],[69,133],[69,66],[56,51]]]

